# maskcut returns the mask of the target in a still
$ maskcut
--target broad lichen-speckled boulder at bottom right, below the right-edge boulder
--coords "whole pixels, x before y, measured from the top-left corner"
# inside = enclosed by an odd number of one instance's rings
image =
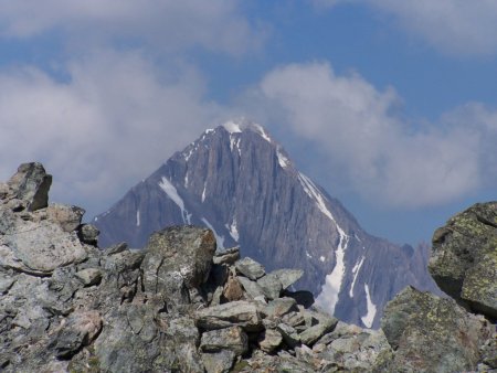
[[[390,370],[461,372],[477,367],[489,326],[452,299],[405,288],[384,310],[382,329],[395,350]]]

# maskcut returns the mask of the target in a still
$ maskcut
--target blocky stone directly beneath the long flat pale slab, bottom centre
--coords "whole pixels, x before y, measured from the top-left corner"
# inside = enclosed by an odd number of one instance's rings
[[[200,340],[200,349],[203,352],[230,350],[240,356],[248,351],[248,338],[240,327],[207,331]]]

